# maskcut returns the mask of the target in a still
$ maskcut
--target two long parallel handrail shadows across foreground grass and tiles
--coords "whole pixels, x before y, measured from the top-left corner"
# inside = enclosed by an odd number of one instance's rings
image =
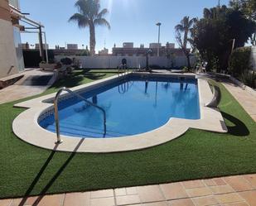
[[[80,147],[80,145],[83,143],[84,140],[85,139],[81,139],[80,142],[77,144],[77,146],[75,146],[75,150],[70,154],[69,158],[67,160],[65,160],[64,164],[60,166],[60,169],[57,170],[56,174],[52,176],[51,180],[49,180],[49,182],[46,184],[46,186],[41,190],[40,196],[35,200],[35,202],[32,204],[32,206],[38,205],[40,203],[41,199],[44,198],[44,195],[46,194],[48,189],[51,188],[51,185],[55,183],[55,181],[60,176],[60,174],[63,172],[63,170],[65,170],[65,167],[67,165],[69,165],[70,161],[74,158],[76,151],[78,150],[78,148]],[[28,196],[31,194],[31,191],[34,189],[34,187],[36,186],[36,183],[40,180],[41,175],[44,173],[44,171],[46,170],[50,161],[52,160],[53,156],[56,154],[57,147],[58,147],[58,145],[56,145],[54,147],[53,151],[51,151],[50,156],[47,158],[45,164],[42,165],[41,170],[36,175],[36,178],[31,182],[31,185],[29,186],[26,193],[24,194],[24,198],[22,199],[21,203],[18,206],[22,206],[26,203]]]

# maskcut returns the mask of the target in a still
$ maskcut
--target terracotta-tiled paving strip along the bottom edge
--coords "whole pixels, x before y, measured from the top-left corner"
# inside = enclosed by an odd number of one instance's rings
[[[256,174],[2,199],[0,206],[256,206]]]

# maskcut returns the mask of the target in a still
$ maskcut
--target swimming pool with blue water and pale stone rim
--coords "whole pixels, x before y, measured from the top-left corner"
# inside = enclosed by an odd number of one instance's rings
[[[56,143],[53,122],[56,93],[15,104],[27,109],[13,120],[12,131],[23,141],[45,149],[94,153],[157,146],[181,137],[189,128],[227,132],[218,108],[205,106],[213,99],[210,85],[195,74],[133,72],[70,90],[104,107],[105,137],[102,113],[70,93],[59,98],[61,144]]]

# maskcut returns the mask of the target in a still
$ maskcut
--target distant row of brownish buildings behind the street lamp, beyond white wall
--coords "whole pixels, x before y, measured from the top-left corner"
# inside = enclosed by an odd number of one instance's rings
[[[152,56],[157,56],[157,48],[159,46],[159,55],[167,56],[167,55],[176,55],[183,56],[183,51],[181,49],[176,49],[174,43],[168,43],[166,46],[162,46],[158,43],[150,43],[149,47],[144,47],[141,45],[140,47],[133,47],[133,43],[123,43],[123,47],[115,47],[112,49],[112,54],[114,56],[145,56],[147,52],[150,50]]]

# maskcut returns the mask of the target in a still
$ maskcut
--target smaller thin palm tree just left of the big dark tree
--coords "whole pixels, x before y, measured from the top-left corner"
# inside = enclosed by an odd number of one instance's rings
[[[184,17],[181,20],[180,24],[175,26],[176,41],[178,45],[181,47],[181,50],[183,51],[184,55],[186,55],[188,69],[191,69],[191,60],[190,60],[191,50],[187,49],[187,44],[189,42],[191,28],[195,22],[196,22],[196,18],[190,19],[190,17]]]

